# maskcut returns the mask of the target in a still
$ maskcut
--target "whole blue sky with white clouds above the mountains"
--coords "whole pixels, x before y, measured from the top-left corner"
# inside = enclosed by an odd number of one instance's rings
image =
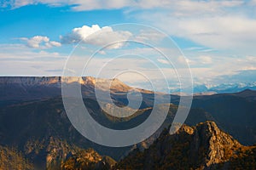
[[[256,82],[255,0],[2,0],[0,19],[0,76]]]

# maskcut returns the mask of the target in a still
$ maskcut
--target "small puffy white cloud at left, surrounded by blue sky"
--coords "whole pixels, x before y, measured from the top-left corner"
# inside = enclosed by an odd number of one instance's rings
[[[21,37],[19,38],[22,41],[26,42],[27,47],[30,48],[52,48],[52,47],[61,47],[60,42],[49,41],[49,37],[35,36],[32,38]]]

